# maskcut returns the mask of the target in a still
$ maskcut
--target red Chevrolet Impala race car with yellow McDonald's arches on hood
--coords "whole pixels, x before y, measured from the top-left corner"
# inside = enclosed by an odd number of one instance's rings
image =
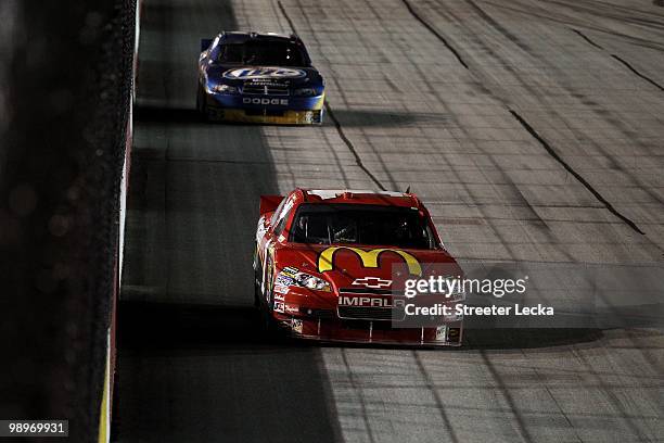
[[[405,295],[406,279],[426,279],[436,269],[440,275],[436,265],[461,274],[411,193],[296,189],[260,198],[255,303],[270,331],[321,341],[460,345],[461,315],[424,322],[408,316],[414,299]],[[444,302],[451,307],[462,298]]]

